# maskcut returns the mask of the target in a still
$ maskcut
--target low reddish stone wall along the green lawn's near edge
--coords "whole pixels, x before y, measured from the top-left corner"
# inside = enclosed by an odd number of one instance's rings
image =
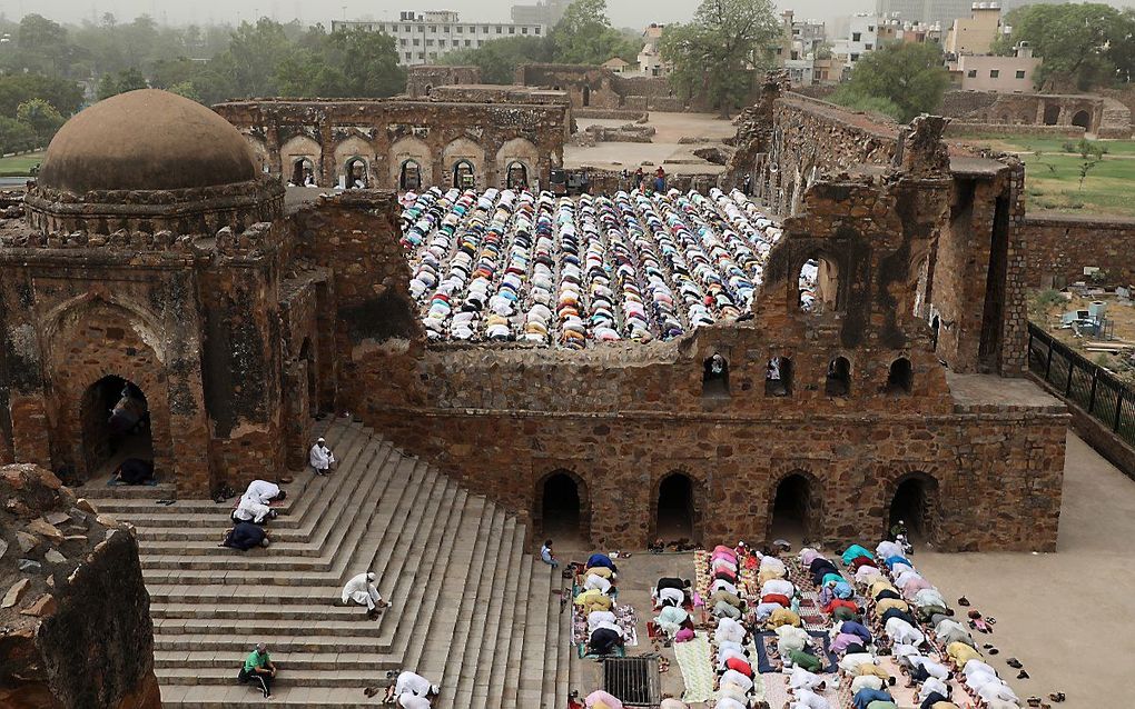
[[[1022,228],[1028,286],[1059,288],[1084,280],[1085,267],[1104,270],[1109,284],[1135,284],[1135,220],[1028,212]]]

